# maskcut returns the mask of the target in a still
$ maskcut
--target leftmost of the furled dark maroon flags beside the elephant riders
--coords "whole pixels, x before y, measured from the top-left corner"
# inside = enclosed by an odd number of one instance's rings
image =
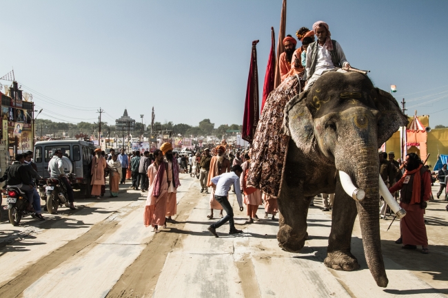
[[[254,140],[256,125],[258,124],[258,69],[256,66],[256,44],[252,41],[252,55],[250,57],[249,78],[247,78],[246,100],[244,104],[243,131],[241,138],[247,140],[252,145]]]

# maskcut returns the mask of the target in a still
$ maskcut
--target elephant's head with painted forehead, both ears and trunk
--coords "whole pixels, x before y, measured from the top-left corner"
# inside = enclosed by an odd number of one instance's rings
[[[288,133],[305,156],[314,152],[314,160],[334,164],[365,191],[364,200],[356,202],[365,258],[378,286],[387,286],[378,220],[378,148],[407,125],[407,116],[394,97],[356,72],[324,74],[289,102],[285,114]]]

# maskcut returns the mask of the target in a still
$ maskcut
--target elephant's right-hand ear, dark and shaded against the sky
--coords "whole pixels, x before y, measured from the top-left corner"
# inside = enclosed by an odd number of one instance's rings
[[[378,147],[380,147],[399,127],[407,126],[409,121],[394,96],[391,96],[389,92],[376,88],[376,90],[372,89],[372,93],[375,93],[374,103],[380,111],[378,119]]]

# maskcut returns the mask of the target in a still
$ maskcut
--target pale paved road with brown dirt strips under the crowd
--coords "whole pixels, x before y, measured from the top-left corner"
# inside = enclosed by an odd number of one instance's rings
[[[378,288],[363,256],[359,225],[352,250],[354,272],[323,265],[331,212],[311,208],[310,239],[301,253],[278,248],[276,220],[236,224],[245,233],[209,235],[208,196],[198,180],[181,175],[178,215],[162,233],[143,226],[145,198],[79,200],[45,222],[30,217],[20,226],[0,224],[0,297],[445,297],[448,294],[447,212],[441,200],[427,209],[430,255],[394,244],[398,222],[381,220],[389,286]],[[125,185],[128,187],[129,184]],[[230,202],[237,206],[236,198]],[[237,208],[234,208],[236,210]],[[443,210],[442,210],[443,209]],[[264,211],[258,211],[263,217]],[[216,216],[218,213],[215,214]],[[443,293],[443,294],[442,294]],[[445,294],[445,295],[444,295]]]

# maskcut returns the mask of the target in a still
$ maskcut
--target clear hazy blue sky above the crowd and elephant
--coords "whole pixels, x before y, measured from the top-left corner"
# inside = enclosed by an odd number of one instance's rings
[[[162,123],[241,124],[252,41],[260,40],[262,88],[281,4],[3,1],[0,76],[14,67],[44,109],[39,118],[54,121],[93,122],[101,107],[108,123],[127,108],[149,124],[154,106]],[[290,0],[287,34],[326,21],[353,67],[371,70],[381,89],[397,85],[394,96],[407,99],[408,114],[418,109],[431,127],[448,125],[447,8],[441,0]]]

